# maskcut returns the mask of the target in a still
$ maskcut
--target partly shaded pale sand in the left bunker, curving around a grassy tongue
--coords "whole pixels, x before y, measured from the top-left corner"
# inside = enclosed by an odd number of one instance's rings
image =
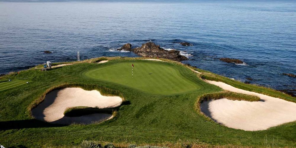
[[[42,121],[57,124],[82,123],[90,124],[112,118],[110,114],[90,114],[80,117],[66,117],[64,112],[69,107],[117,107],[122,99],[118,96],[102,96],[99,91],[86,91],[81,88],[65,88],[54,90],[45,96],[36,108],[33,116]]]

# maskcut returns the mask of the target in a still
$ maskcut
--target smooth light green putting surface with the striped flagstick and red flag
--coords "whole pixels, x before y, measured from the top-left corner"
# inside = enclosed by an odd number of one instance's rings
[[[91,69],[83,74],[89,78],[122,84],[152,94],[180,94],[200,89],[198,82],[184,76],[188,75],[184,70],[159,62],[121,62]]]

